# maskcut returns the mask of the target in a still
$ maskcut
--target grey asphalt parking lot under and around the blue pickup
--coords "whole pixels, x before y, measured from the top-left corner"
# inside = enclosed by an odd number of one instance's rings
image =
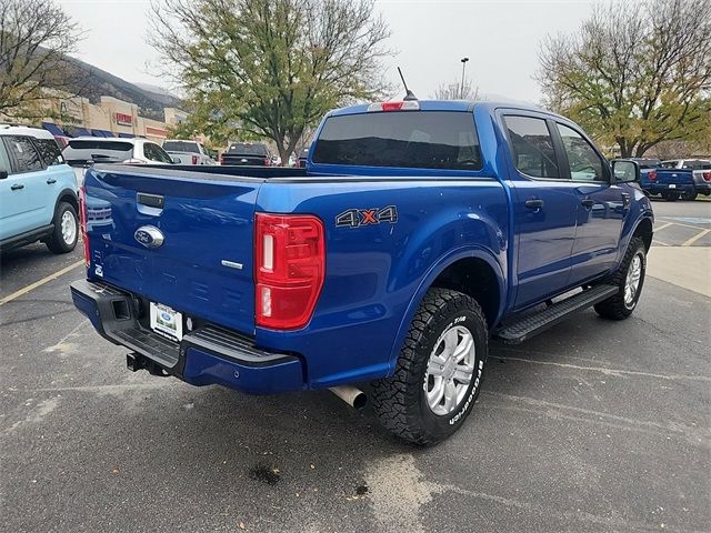
[[[711,245],[711,202],[654,208],[654,251]],[[3,531],[711,527],[711,299],[693,286],[648,276],[628,321],[587,311],[492,345],[462,431],[418,449],[329,392],[127,371],[71,304],[80,249],[1,259]]]

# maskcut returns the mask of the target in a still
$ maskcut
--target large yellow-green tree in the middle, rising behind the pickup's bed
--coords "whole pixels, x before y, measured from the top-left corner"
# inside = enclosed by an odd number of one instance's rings
[[[326,111],[385,88],[372,0],[154,0],[152,21],[194,129],[271,139],[282,161]]]

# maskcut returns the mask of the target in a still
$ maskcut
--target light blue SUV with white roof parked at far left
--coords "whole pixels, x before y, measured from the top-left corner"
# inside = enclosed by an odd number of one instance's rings
[[[49,131],[0,124],[0,249],[42,241],[71,252],[79,237],[77,178]]]

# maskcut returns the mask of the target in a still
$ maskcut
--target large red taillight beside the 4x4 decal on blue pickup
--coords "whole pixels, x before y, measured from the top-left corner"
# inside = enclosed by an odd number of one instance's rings
[[[256,322],[262,328],[303,328],[326,274],[323,222],[310,214],[254,215]]]

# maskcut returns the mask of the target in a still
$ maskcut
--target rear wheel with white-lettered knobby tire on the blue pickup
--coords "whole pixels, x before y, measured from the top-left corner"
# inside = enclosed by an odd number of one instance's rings
[[[459,430],[474,406],[488,354],[487,320],[474,299],[428,291],[394,375],[372,383],[375,415],[390,432],[422,445]]]

